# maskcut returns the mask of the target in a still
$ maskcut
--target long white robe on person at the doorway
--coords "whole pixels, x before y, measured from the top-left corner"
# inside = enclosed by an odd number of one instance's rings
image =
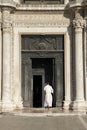
[[[52,93],[53,88],[49,84],[44,87],[45,91],[45,102],[44,107],[52,107]]]

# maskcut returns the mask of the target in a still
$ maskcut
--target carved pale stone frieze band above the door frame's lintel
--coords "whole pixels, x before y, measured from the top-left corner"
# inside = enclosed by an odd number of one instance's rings
[[[14,26],[30,27],[30,26],[69,26],[70,19],[65,18],[63,14],[36,14],[36,15],[15,15]]]

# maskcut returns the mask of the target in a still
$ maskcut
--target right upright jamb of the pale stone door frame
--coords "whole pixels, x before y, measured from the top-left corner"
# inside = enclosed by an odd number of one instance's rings
[[[68,29],[69,31],[69,29]],[[64,69],[65,69],[65,99],[64,109],[70,108],[71,103],[71,76],[70,76],[70,32],[65,34],[64,38]]]

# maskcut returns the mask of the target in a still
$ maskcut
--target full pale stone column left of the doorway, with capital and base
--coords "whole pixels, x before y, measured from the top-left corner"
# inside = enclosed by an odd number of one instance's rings
[[[11,19],[10,8],[3,8],[3,110],[12,109],[11,102]]]

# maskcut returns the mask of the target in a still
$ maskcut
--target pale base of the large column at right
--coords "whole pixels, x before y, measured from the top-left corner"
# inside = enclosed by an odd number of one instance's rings
[[[85,101],[73,101],[73,110],[85,110],[86,102]]]

